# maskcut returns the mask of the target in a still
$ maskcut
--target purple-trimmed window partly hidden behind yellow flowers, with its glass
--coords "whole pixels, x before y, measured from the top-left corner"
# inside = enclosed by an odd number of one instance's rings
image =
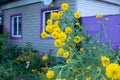
[[[40,18],[40,21],[41,21],[40,34],[45,31],[45,26],[47,25],[47,20],[51,19],[51,13],[52,12],[58,12],[59,9],[60,9],[60,7],[56,7],[56,6],[41,9],[41,13],[40,13],[40,15],[41,15],[41,18]],[[48,35],[48,37],[50,37],[50,35]]]

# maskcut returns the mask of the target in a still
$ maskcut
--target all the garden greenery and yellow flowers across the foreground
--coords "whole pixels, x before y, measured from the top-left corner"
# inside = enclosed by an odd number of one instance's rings
[[[120,50],[88,35],[79,23],[79,12],[73,13],[63,3],[51,17],[41,37],[54,38],[56,56],[53,49],[38,52],[29,42],[26,48],[9,48],[4,33],[0,35],[0,80],[120,80]]]

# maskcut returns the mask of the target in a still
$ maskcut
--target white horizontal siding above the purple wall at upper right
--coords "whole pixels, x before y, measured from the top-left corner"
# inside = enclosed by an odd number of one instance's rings
[[[81,16],[94,16],[102,13],[104,15],[119,14],[119,6],[95,1],[95,0],[78,0],[77,11],[81,12]]]

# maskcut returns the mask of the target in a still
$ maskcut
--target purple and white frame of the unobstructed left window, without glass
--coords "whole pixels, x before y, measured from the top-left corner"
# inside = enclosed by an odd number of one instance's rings
[[[21,34],[19,35],[19,18],[21,17]],[[17,34],[14,35],[14,19],[17,19]],[[22,13],[13,14],[10,16],[10,39],[22,39]]]

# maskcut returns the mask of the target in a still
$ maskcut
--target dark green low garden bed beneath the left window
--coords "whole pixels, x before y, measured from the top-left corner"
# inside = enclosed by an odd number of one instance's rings
[[[39,53],[30,43],[25,48],[8,47],[8,36],[0,35],[0,80],[39,80],[56,64],[53,49]]]

